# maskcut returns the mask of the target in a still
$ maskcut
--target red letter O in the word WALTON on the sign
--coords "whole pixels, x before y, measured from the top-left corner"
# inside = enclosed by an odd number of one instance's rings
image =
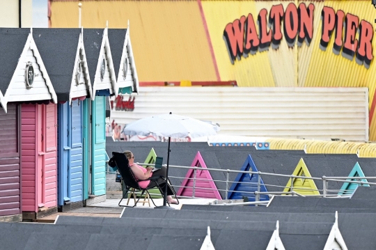
[[[294,3],[289,3],[285,11],[285,22],[283,22],[283,31],[288,46],[293,47],[295,38],[299,28],[299,19],[297,14],[297,6]]]

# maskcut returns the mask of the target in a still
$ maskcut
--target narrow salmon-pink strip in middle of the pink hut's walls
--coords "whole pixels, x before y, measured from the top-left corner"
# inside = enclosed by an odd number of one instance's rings
[[[45,206],[45,175],[44,175],[44,160],[45,160],[45,105],[37,105],[37,147],[38,147],[38,162],[36,168],[37,175],[37,204],[38,208]],[[37,208],[37,210],[38,210]]]

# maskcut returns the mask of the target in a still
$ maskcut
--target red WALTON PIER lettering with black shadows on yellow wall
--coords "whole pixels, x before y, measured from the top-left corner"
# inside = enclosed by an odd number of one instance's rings
[[[313,3],[289,3],[283,9],[282,4],[274,5],[267,12],[266,8],[260,10],[257,22],[249,13],[239,19],[235,19],[226,25],[224,29],[224,40],[230,55],[231,63],[249,54],[263,52],[272,49],[279,49],[281,40],[284,37],[289,47],[295,44],[301,47],[306,42],[311,45],[313,38]],[[256,29],[258,24],[258,29]],[[357,15],[345,13],[343,10],[337,12],[324,6],[321,13],[322,32],[320,49],[326,51],[329,40],[334,36],[333,52],[344,58],[353,60],[367,69],[373,60],[373,25],[366,20],[359,20]]]

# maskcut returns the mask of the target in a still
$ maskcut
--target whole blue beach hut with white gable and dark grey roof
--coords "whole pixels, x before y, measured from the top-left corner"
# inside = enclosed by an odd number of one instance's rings
[[[33,37],[45,61],[58,98],[58,206],[82,206],[84,194],[84,109],[91,98],[81,29],[34,29]],[[87,111],[86,111],[87,112]],[[87,195],[86,195],[87,197]]]

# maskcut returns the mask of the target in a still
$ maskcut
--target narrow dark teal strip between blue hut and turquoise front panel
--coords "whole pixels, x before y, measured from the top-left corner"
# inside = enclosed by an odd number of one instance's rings
[[[82,147],[83,147],[83,152],[84,155],[82,157],[83,162],[83,172],[84,172],[84,186],[82,187],[83,191],[83,198],[86,200],[88,198],[89,194],[89,166],[90,166],[90,159],[91,159],[91,145],[90,145],[90,99],[85,99],[82,105]]]

